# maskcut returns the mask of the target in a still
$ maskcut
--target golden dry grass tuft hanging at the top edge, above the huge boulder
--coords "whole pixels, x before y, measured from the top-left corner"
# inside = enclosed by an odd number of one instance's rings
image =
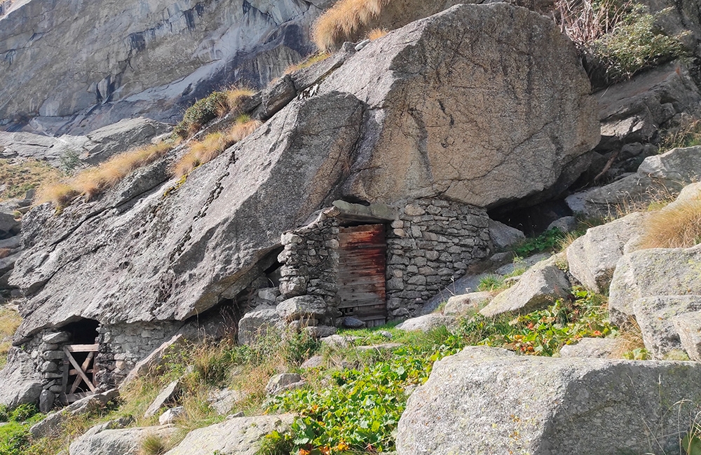
[[[340,0],[314,22],[312,39],[320,50],[355,41],[390,0]],[[360,35],[360,36],[359,36]]]

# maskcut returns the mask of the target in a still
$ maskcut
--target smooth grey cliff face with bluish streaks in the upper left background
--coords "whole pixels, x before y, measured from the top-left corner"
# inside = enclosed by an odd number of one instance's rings
[[[327,3],[24,1],[0,15],[0,124],[39,116],[36,130],[72,130],[90,111],[93,130],[179,114],[175,104],[215,85],[264,86],[311,52],[309,25]]]

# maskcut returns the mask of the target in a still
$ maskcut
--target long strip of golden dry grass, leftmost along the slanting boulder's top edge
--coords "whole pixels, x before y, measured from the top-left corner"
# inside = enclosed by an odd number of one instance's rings
[[[34,202],[36,204],[53,202],[57,207],[64,207],[76,196],[82,195],[90,200],[98,193],[121,182],[132,171],[161,158],[172,149],[173,145],[172,142],[160,142],[125,151],[95,168],[79,172],[68,180],[41,186]]]

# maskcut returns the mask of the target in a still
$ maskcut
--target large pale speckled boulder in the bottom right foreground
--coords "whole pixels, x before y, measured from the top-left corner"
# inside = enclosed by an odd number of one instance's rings
[[[695,362],[465,348],[436,362],[409,398],[397,453],[679,454],[688,428],[678,415],[689,415],[690,403],[701,399],[700,380]]]

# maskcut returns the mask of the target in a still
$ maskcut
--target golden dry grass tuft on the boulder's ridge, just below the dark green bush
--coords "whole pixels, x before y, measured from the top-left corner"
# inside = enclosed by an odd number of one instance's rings
[[[193,169],[212,161],[233,144],[243,140],[260,125],[260,121],[251,120],[249,116],[239,116],[236,123],[226,133],[221,131],[210,133],[203,140],[192,144],[189,151],[175,163],[171,171],[172,174],[175,177],[188,175]]]

